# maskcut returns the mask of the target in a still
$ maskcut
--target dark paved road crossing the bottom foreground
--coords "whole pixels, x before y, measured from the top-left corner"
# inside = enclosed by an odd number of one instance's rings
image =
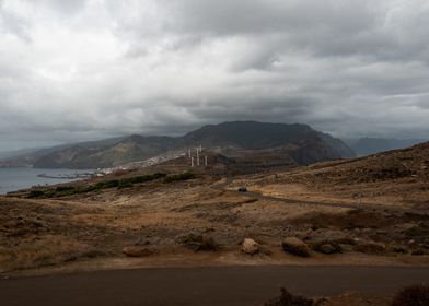
[[[100,271],[0,280],[0,305],[262,305],[286,286],[304,295],[394,293],[429,283],[429,268],[210,267]]]

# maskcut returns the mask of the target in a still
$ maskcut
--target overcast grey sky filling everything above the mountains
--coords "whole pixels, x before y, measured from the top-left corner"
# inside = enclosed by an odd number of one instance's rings
[[[0,0],[0,151],[227,120],[427,138],[426,0]]]

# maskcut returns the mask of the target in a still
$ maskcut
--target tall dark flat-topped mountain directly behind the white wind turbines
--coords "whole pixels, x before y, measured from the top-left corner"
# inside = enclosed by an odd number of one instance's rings
[[[255,153],[259,150],[283,146],[297,164],[353,157],[355,153],[341,140],[313,130],[306,125],[234,121],[205,126],[187,133],[185,145],[201,143],[205,148],[218,149],[218,153],[235,156],[241,150]]]

